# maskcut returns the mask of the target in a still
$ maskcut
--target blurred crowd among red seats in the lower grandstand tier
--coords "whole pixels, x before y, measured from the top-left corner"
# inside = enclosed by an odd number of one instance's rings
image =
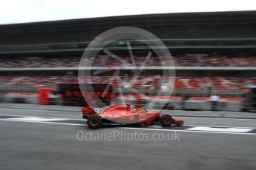
[[[171,81],[173,80],[173,81]],[[157,76],[153,77],[139,77],[133,79],[131,77],[119,77],[119,79],[111,78],[107,76],[102,77],[85,77],[79,79],[80,83],[108,83],[122,86],[122,88],[134,88],[134,89],[160,89],[163,84],[170,85],[174,84],[174,89],[190,89],[190,90],[202,90],[209,86],[218,90],[232,90],[237,91],[247,85],[255,85],[256,78],[184,78],[177,77],[172,78],[160,78]],[[8,76],[0,77],[0,88],[24,88],[28,89],[39,89],[43,87],[54,87],[59,83],[78,83],[76,77],[71,76],[52,76],[52,77],[13,77]]]

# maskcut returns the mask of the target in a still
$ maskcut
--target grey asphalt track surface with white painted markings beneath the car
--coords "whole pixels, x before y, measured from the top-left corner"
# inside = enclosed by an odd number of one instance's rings
[[[79,112],[0,109],[1,169],[256,169],[256,119],[103,126]]]

